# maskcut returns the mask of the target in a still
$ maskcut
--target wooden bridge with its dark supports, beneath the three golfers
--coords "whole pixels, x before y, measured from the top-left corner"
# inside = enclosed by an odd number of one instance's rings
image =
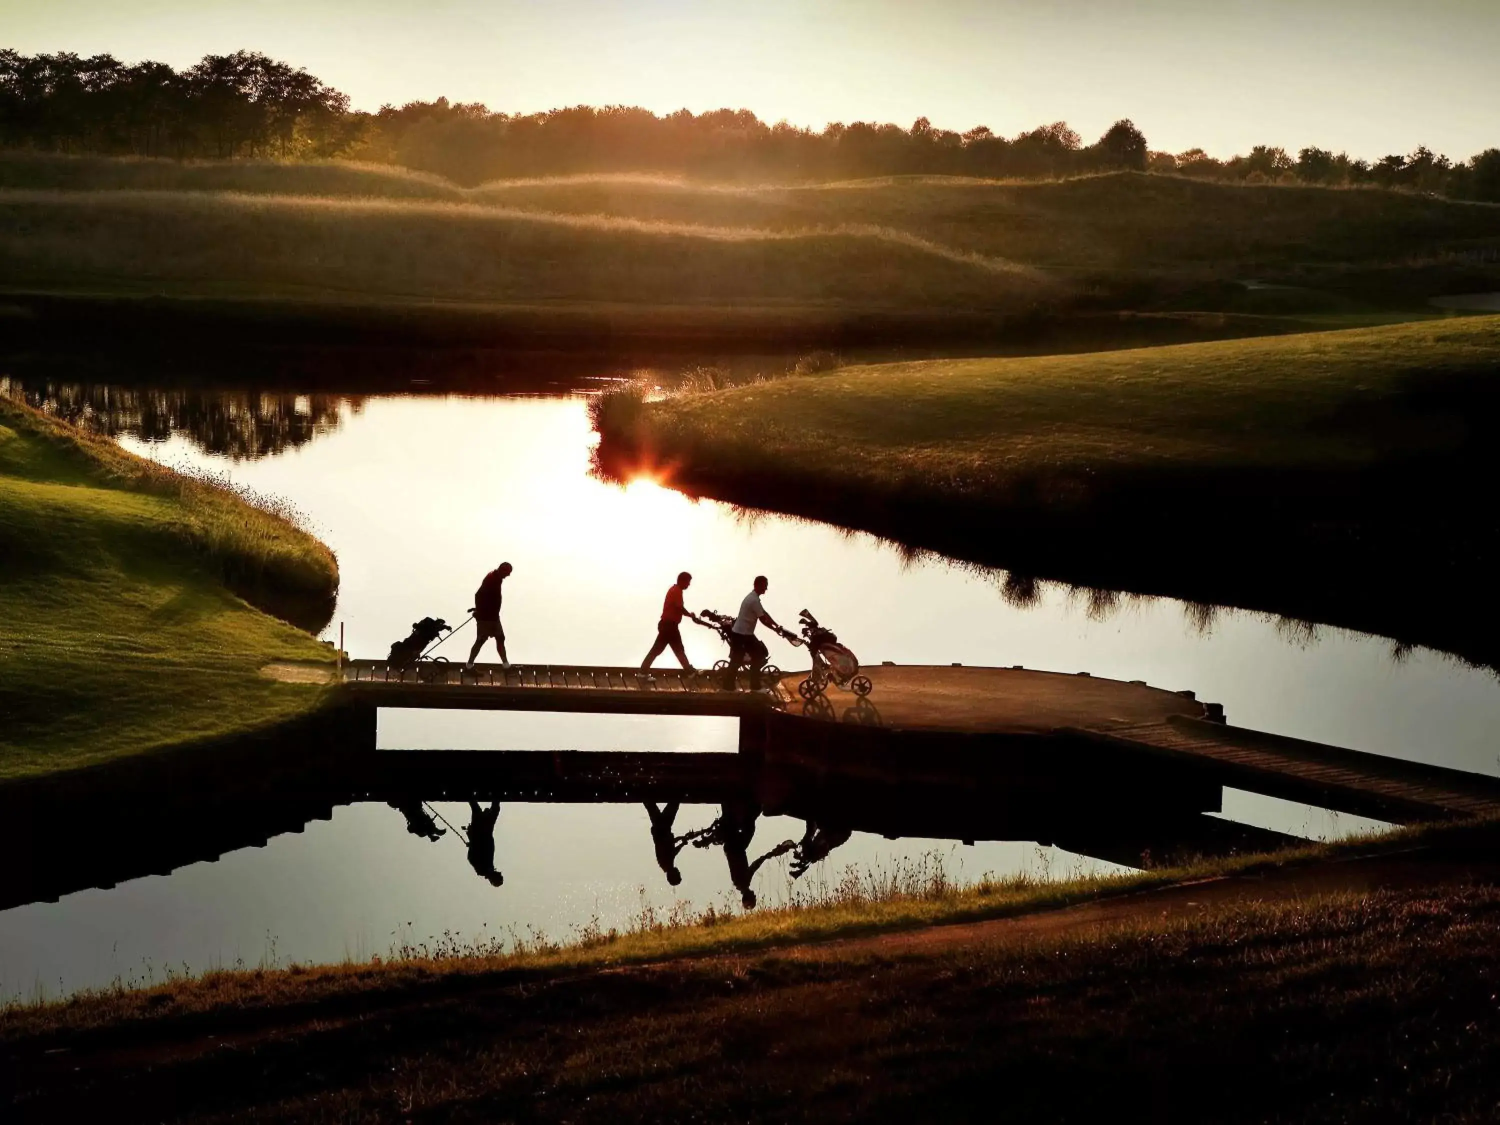
[[[1220,789],[1230,786],[1398,824],[1500,816],[1500,778],[1227,726],[1222,708],[1192,692],[1023,668],[866,672],[874,682],[868,699],[830,687],[804,700],[804,674],[762,692],[729,692],[718,675],[676,669],[482,664],[466,674],[458,664],[396,670],[356,660],[342,692],[372,708],[735,717],[741,753],[756,762],[886,784],[934,771],[944,783],[969,776],[1000,806],[1014,795],[1017,812],[1040,794],[1160,804],[1164,814],[1216,812]],[[483,758],[464,772],[483,771]]]

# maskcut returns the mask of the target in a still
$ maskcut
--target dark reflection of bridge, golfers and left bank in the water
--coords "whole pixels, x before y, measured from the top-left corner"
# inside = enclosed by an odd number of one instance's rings
[[[831,708],[824,700],[808,710],[820,706]],[[843,708],[842,717],[867,726],[879,714],[861,700]],[[388,806],[392,832],[432,842],[454,836],[476,878],[494,886],[504,885],[507,866],[526,862],[525,855],[496,855],[495,826],[508,802],[645,806],[640,848],[644,854],[652,849],[662,879],[681,882],[676,856],[684,848],[722,849],[726,884],[747,908],[754,904],[750,882],[762,862],[790,855],[790,872],[801,876],[855,832],[892,840],[1036,842],[1131,867],[1294,843],[1208,816],[1191,801],[1106,801],[1089,790],[1048,796],[1024,786],[1002,792],[982,771],[892,780],[878,768],[846,768],[837,754],[804,760],[789,753],[768,760],[744,752],[412,750],[324,756],[306,768],[296,758],[266,759],[258,770],[218,770],[213,778],[182,778],[176,786],[117,778],[92,789],[52,786],[24,800],[0,800],[8,806],[0,808],[0,846],[8,855],[0,868],[0,909],[261,848],[354,802]],[[446,816],[438,806],[450,802],[465,804],[466,814]],[[680,832],[684,806],[711,808],[712,822]],[[756,842],[764,814],[801,819],[806,830],[800,840]]]

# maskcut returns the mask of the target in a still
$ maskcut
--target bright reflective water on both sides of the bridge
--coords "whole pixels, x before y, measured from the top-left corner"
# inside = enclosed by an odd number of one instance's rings
[[[124,428],[136,432],[120,440],[168,465],[224,472],[304,513],[342,570],[326,636],[342,627],[356,657],[382,657],[420,616],[464,620],[478,578],[502,560],[514,566],[506,632],[512,658],[522,662],[633,664],[678,570],[694,574],[694,609],[732,609],[765,573],[772,615],[790,624],[798,609],[812,609],[866,663],[1024,664],[1144,680],[1192,688],[1238,724],[1500,770],[1492,672],[1401,651],[1388,639],[1170,598],[1042,584],[1026,602],[1004,574],[912,556],[867,536],[692,501],[662,482],[604,483],[590,472],[594,436],[578,393],[224,394],[210,405],[196,422],[188,411],[176,422],[159,411],[144,426],[136,417]],[[694,663],[722,656],[716,634],[690,624],[684,632]],[[450,642],[453,657],[470,639]],[[774,660],[796,666],[790,648],[771,644]],[[735,728],[708,718],[386,711],[380,746],[732,752]],[[438,812],[454,825],[468,819],[465,806]],[[678,830],[712,816],[686,807]],[[1368,826],[1236,792],[1226,794],[1224,816],[1306,837]],[[801,828],[762,820],[752,854]],[[4,910],[0,998],[240,962],[368,957],[406,942],[536,932],[566,939],[594,920],[626,924],[642,906],[666,912],[675,902],[736,898],[714,849],[687,849],[682,884],[669,886],[636,806],[507,804],[495,840],[500,888],[476,878],[456,834],[418,838],[393,808],[346,806],[266,848]],[[807,880],[837,882],[849,866],[891,872],[934,861],[962,879],[1104,867],[1029,842],[962,846],[856,834]],[[758,890],[762,903],[792,891],[784,861],[760,870]]]

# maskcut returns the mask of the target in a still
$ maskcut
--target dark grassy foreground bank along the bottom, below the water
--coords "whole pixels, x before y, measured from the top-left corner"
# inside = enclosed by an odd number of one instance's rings
[[[0,1090],[18,1120],[968,1119],[996,1089],[1038,1120],[1479,1119],[1500,896],[1404,862],[782,951],[222,972],[6,1011]]]

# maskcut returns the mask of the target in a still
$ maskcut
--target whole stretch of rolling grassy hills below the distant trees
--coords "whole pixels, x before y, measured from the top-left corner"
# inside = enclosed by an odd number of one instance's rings
[[[0,273],[12,292],[726,318],[963,312],[993,322],[1136,309],[1347,321],[1500,286],[1500,267],[1485,264],[1497,249],[1500,207],[1138,174],[764,188],[610,176],[462,189],[334,162],[0,156]]]

